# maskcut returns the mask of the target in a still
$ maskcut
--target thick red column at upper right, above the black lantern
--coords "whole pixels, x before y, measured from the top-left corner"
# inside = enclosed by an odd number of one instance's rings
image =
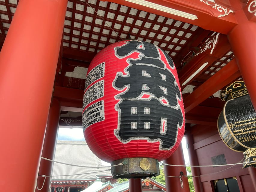
[[[228,39],[252,104],[256,109],[256,23],[248,21],[243,10],[236,11],[236,19],[238,24],[228,34]]]

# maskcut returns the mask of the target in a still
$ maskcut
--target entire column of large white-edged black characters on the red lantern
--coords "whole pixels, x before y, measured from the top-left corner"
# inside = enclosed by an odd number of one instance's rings
[[[127,86],[116,96],[121,100],[116,105],[119,111],[116,137],[122,143],[138,139],[159,141],[160,149],[170,149],[184,123],[178,103],[180,89],[167,67],[175,68],[172,59],[153,44],[136,40],[116,47],[115,55],[120,59],[131,55],[126,59],[129,64],[124,70],[126,74],[118,72],[113,81],[117,90]]]

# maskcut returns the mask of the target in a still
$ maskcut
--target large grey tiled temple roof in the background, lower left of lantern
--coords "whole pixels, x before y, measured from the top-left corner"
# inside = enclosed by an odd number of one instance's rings
[[[79,166],[98,167],[104,166],[101,160],[96,157],[89,149],[85,141],[58,141],[56,145],[55,161],[63,162],[66,164],[73,164]],[[85,168],[74,167],[71,165],[53,164],[52,181],[54,180],[91,180],[97,177],[112,177],[110,167],[106,168]],[[104,171],[107,170],[107,171]],[[93,173],[104,171],[99,173]],[[83,174],[82,173],[89,173]],[[69,175],[69,176],[66,176]],[[58,177],[57,177],[58,176]]]

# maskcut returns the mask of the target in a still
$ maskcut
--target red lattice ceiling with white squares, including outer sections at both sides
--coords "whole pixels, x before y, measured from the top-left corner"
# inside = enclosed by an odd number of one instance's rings
[[[0,0],[0,48],[18,2]],[[199,50],[214,34],[215,32],[185,22],[112,2],[69,0],[63,31],[63,49],[74,54],[69,59],[80,60],[76,55],[90,55],[89,58],[92,58],[109,44],[127,38],[138,39],[161,47],[173,58],[176,67],[178,66],[177,70],[180,70],[183,66],[182,59],[188,52]],[[194,81],[199,84],[205,82],[233,58],[232,50],[225,52],[205,70],[200,71]],[[69,60],[68,63],[70,62]]]

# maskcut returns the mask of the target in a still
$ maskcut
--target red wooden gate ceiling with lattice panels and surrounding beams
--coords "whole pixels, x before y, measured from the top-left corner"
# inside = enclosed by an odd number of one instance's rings
[[[0,49],[18,2],[0,0]],[[228,0],[146,2],[198,18],[187,19],[124,0],[68,1],[54,96],[62,106],[81,108],[86,68],[92,58],[109,44],[138,39],[161,47],[173,58],[182,85],[186,122],[216,125],[224,103],[215,98],[215,92],[242,79],[227,39],[236,24],[232,5]],[[68,109],[65,107],[63,110]]]

